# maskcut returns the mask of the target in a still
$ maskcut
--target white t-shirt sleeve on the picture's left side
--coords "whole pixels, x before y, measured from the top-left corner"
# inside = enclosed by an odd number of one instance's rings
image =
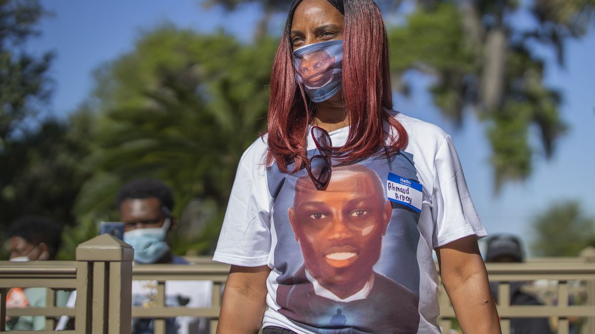
[[[259,138],[240,159],[214,261],[246,267],[268,263],[273,199],[262,159],[265,152],[266,144]]]

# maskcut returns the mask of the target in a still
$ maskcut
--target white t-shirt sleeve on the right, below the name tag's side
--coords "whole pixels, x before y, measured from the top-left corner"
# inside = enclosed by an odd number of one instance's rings
[[[486,229],[471,201],[465,175],[452,138],[446,136],[434,158],[432,195],[434,248],[469,235],[486,237]]]

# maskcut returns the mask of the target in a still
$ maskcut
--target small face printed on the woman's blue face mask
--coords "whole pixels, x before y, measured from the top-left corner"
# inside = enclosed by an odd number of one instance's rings
[[[335,58],[324,50],[304,55],[299,60],[297,71],[303,83],[308,87],[321,87],[333,76]]]

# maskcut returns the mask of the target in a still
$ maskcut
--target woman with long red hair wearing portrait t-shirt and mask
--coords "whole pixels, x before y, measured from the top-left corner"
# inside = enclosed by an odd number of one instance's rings
[[[391,96],[374,2],[293,1],[214,255],[218,333],[440,333],[433,250],[464,332],[500,332],[452,140]]]

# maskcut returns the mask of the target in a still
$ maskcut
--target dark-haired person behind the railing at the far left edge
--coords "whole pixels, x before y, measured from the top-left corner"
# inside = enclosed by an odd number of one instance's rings
[[[50,219],[24,216],[11,223],[8,229],[10,261],[54,260],[60,249],[61,230]],[[58,291],[56,305],[64,306],[67,291]],[[46,288],[12,288],[7,294],[8,308],[45,307]],[[44,330],[45,317],[21,316],[7,321],[8,330]]]

